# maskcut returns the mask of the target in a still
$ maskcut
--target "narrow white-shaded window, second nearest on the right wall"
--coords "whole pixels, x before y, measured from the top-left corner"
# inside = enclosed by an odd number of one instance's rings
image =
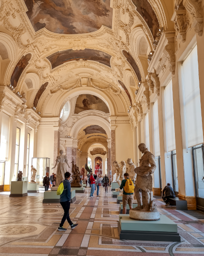
[[[175,150],[172,80],[165,87],[164,96],[165,96],[166,138],[167,138],[167,148],[169,152],[169,151]]]

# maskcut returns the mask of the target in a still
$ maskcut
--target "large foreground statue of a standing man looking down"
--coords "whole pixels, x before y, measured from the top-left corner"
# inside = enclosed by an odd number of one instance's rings
[[[149,211],[149,201],[152,191],[152,176],[151,174],[156,170],[155,157],[152,155],[144,143],[138,146],[140,152],[144,154],[140,159],[140,166],[135,168],[135,173],[137,174],[136,184],[135,184],[135,196],[137,198],[138,206],[133,210]],[[139,189],[142,190],[142,203]],[[151,199],[152,200],[152,199]]]

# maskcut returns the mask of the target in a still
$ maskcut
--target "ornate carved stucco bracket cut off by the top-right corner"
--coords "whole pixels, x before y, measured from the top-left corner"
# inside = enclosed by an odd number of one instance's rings
[[[203,33],[203,7],[202,0],[184,0],[184,7],[190,12],[193,19],[192,27],[195,33],[202,36]]]

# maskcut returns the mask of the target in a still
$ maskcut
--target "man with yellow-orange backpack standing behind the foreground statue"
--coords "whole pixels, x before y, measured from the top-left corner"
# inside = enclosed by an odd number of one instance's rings
[[[129,204],[130,210],[133,208],[133,193],[134,193],[134,183],[133,181],[129,178],[129,174],[125,173],[124,174],[124,180],[122,180],[120,189],[123,188],[123,195],[122,195],[122,214],[126,214],[126,206],[127,203]]]

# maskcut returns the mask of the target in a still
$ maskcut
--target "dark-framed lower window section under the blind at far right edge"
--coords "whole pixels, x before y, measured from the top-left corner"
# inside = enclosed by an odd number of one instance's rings
[[[204,198],[203,144],[192,147],[196,197]]]

